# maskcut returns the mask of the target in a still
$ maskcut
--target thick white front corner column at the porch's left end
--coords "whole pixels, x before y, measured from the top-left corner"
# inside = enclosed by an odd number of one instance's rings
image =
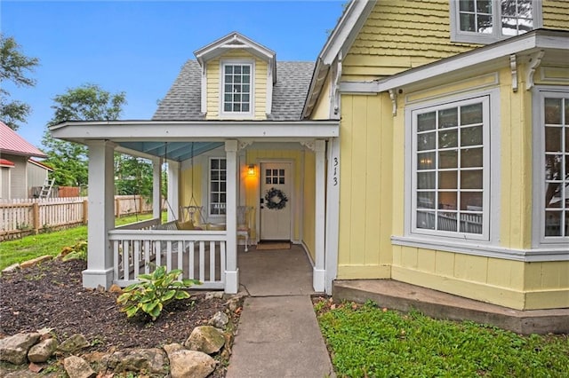
[[[108,231],[115,228],[115,145],[104,140],[89,142],[89,224],[87,269],[83,287],[113,283],[113,251]]]

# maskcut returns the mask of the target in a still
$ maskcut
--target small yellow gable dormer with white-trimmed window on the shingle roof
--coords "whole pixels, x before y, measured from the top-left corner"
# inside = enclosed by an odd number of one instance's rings
[[[271,114],[276,54],[231,33],[194,52],[205,119],[265,120]]]

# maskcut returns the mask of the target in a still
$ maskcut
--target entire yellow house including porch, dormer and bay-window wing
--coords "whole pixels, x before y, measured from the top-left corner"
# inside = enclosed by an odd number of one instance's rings
[[[569,2],[476,4],[351,2],[314,67],[233,33],[195,52],[152,121],[52,127],[89,146],[100,185],[90,217],[106,222],[90,223],[84,285],[124,284],[119,262],[169,237],[221,240],[224,273],[208,284],[236,292],[247,205],[254,241],[306,249],[317,291],[392,279],[569,307]],[[197,203],[225,230],[113,230],[115,150],[152,158],[158,184],[170,161],[171,219]],[[268,191],[283,209],[267,209]]]

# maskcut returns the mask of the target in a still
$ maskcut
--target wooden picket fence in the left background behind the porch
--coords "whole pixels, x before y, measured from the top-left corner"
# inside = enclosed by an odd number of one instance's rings
[[[0,241],[87,224],[87,197],[0,200]],[[152,212],[140,195],[115,196],[115,216]]]

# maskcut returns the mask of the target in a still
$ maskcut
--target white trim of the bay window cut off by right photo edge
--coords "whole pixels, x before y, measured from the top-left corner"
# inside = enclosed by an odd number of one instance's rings
[[[569,97],[569,86],[536,86],[533,88],[533,207],[532,207],[532,246],[533,248],[564,247],[569,257],[569,237],[549,236],[543,234],[545,224],[545,207],[543,192],[543,167],[545,166],[545,135],[542,132],[545,98]]]

